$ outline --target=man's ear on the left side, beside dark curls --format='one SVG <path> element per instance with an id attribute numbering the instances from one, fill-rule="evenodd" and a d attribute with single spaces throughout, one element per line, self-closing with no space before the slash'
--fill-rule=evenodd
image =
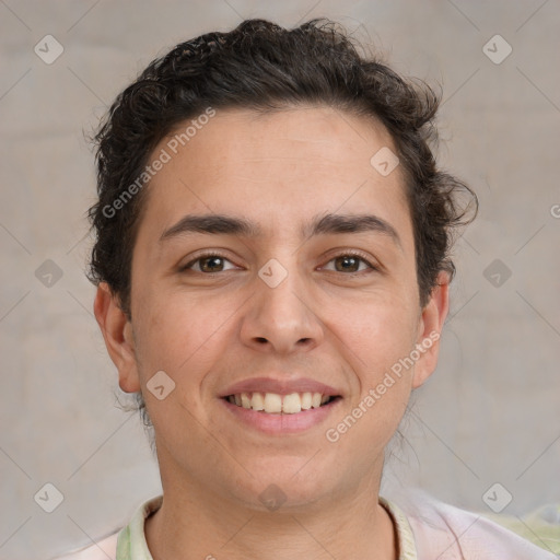
<path id="1" fill-rule="evenodd" d="M 93 304 L 95 318 L 100 325 L 105 346 L 118 370 L 118 383 L 125 393 L 140 390 L 140 380 L 135 353 L 132 324 L 119 306 L 106 282 L 97 287 Z"/>

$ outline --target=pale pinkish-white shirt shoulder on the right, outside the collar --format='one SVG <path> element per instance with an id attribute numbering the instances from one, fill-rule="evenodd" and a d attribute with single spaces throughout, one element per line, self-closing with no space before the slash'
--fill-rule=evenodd
<path id="1" fill-rule="evenodd" d="M 455 508 L 423 493 L 400 499 L 397 503 L 408 521 L 418 560 L 557 559 L 553 553 L 498 525 L 481 513 Z"/>

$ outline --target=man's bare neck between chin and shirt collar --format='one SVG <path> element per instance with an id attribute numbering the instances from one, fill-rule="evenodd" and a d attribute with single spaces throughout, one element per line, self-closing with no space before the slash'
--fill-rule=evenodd
<path id="1" fill-rule="evenodd" d="M 378 478 L 357 485 L 345 499 L 329 492 L 311 505 L 262 511 L 162 476 L 162 506 L 145 522 L 148 547 L 154 560 L 396 560 L 393 522 L 377 501 Z"/>

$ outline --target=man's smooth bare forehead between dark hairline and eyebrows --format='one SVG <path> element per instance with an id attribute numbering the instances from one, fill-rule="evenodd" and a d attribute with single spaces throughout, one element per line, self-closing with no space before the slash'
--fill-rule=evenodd
<path id="1" fill-rule="evenodd" d="M 192 120 L 152 154 L 167 154 L 149 184 L 144 215 L 160 234 L 187 212 L 244 217 L 261 236 L 304 232 L 311 217 L 337 210 L 389 223 L 408 217 L 399 166 L 384 176 L 371 163 L 382 149 L 396 152 L 373 119 L 298 107 L 217 110 L 197 127 Z"/>

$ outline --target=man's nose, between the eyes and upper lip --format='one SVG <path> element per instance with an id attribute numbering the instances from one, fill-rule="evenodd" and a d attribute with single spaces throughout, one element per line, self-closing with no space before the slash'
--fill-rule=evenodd
<path id="1" fill-rule="evenodd" d="M 271 288 L 255 278 L 243 318 L 241 337 L 246 346 L 265 352 L 289 354 L 316 348 L 324 339 L 324 327 L 315 314 L 310 290 L 295 272 Z"/>

